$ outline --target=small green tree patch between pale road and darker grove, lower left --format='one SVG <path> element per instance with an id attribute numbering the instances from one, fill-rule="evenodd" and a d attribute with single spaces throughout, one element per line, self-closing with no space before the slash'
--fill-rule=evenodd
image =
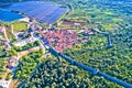
<path id="1" fill-rule="evenodd" d="M 16 79 L 25 79 L 30 76 L 32 70 L 42 59 L 42 51 L 30 53 L 22 58 L 20 58 L 20 64 L 16 68 L 16 73 L 14 78 Z"/>

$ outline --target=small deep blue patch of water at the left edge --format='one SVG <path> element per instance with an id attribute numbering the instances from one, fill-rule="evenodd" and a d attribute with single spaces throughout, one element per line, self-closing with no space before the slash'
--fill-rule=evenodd
<path id="1" fill-rule="evenodd" d="M 0 9 L 0 20 L 6 22 L 11 22 L 18 19 L 23 18 L 21 14 L 16 14 L 10 11 Z"/>

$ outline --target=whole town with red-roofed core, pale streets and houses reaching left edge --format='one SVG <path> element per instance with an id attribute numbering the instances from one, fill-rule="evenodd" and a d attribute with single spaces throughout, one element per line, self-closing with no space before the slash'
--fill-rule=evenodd
<path id="1" fill-rule="evenodd" d="M 20 58 L 28 53 L 43 48 L 43 56 L 45 57 L 45 51 L 50 48 L 48 45 L 63 53 L 64 50 L 72 48 L 75 44 L 79 44 L 79 36 L 66 29 L 56 30 L 51 25 L 47 29 L 43 29 L 41 25 L 35 23 L 35 20 L 26 18 L 24 20 L 20 20 L 20 23 L 23 22 L 25 22 L 28 26 L 25 31 L 14 32 L 12 25 L 12 34 L 18 40 L 13 42 L 8 38 L 6 26 L 0 26 L 0 33 L 3 34 L 3 36 L 1 36 L 1 40 L 3 40 L 1 41 L 1 44 L 3 44 L 7 51 L 12 52 L 8 63 L 3 66 L 6 73 L 3 73 L 1 82 L 6 88 L 9 88 L 11 84 L 11 77 L 13 77 L 13 72 L 15 72 L 16 67 L 19 66 Z M 92 34 L 91 31 L 80 31 L 80 33 L 85 33 L 86 36 Z M 26 45 L 30 46 L 25 47 Z M 20 47 L 22 48 L 20 50 Z M 12 51 L 14 48 L 16 51 Z"/>

